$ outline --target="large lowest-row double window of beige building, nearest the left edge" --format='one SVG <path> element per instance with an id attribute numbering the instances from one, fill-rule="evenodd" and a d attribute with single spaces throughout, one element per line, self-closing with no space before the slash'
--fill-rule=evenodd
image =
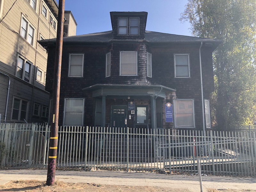
<path id="1" fill-rule="evenodd" d="M 13 98 L 12 102 L 12 120 L 24 121 L 28 116 L 28 101 Z"/>

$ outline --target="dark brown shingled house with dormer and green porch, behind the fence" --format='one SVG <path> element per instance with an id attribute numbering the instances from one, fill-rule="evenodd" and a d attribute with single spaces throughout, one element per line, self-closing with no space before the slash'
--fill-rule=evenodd
<path id="1" fill-rule="evenodd" d="M 60 125 L 211 128 L 215 39 L 146 31 L 147 12 L 110 12 L 112 31 L 63 38 Z M 47 46 L 52 92 L 56 39 Z"/>

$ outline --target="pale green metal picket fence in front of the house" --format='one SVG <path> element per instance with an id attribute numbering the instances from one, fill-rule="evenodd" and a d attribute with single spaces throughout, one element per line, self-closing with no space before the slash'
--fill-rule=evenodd
<path id="1" fill-rule="evenodd" d="M 1 124 L 0 139 L 2 166 L 47 166 L 47 125 Z M 57 167 L 196 174 L 198 161 L 203 174 L 254 177 L 255 132 L 59 127 Z"/>

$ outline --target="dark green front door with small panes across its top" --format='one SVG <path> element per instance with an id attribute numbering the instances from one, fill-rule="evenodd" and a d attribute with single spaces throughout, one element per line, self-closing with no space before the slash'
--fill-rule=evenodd
<path id="1" fill-rule="evenodd" d="M 111 127 L 127 127 L 127 106 L 112 105 L 111 107 Z"/>

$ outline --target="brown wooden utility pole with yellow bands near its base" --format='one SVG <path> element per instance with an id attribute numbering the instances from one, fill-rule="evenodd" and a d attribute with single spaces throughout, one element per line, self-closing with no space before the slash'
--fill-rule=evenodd
<path id="1" fill-rule="evenodd" d="M 59 101 L 60 101 L 60 73 L 62 60 L 63 24 L 65 0 L 59 0 L 57 39 L 55 48 L 54 76 L 53 76 L 53 115 L 50 117 L 50 142 L 48 156 L 48 172 L 46 185 L 55 183 L 55 170 L 58 146 Z"/>

